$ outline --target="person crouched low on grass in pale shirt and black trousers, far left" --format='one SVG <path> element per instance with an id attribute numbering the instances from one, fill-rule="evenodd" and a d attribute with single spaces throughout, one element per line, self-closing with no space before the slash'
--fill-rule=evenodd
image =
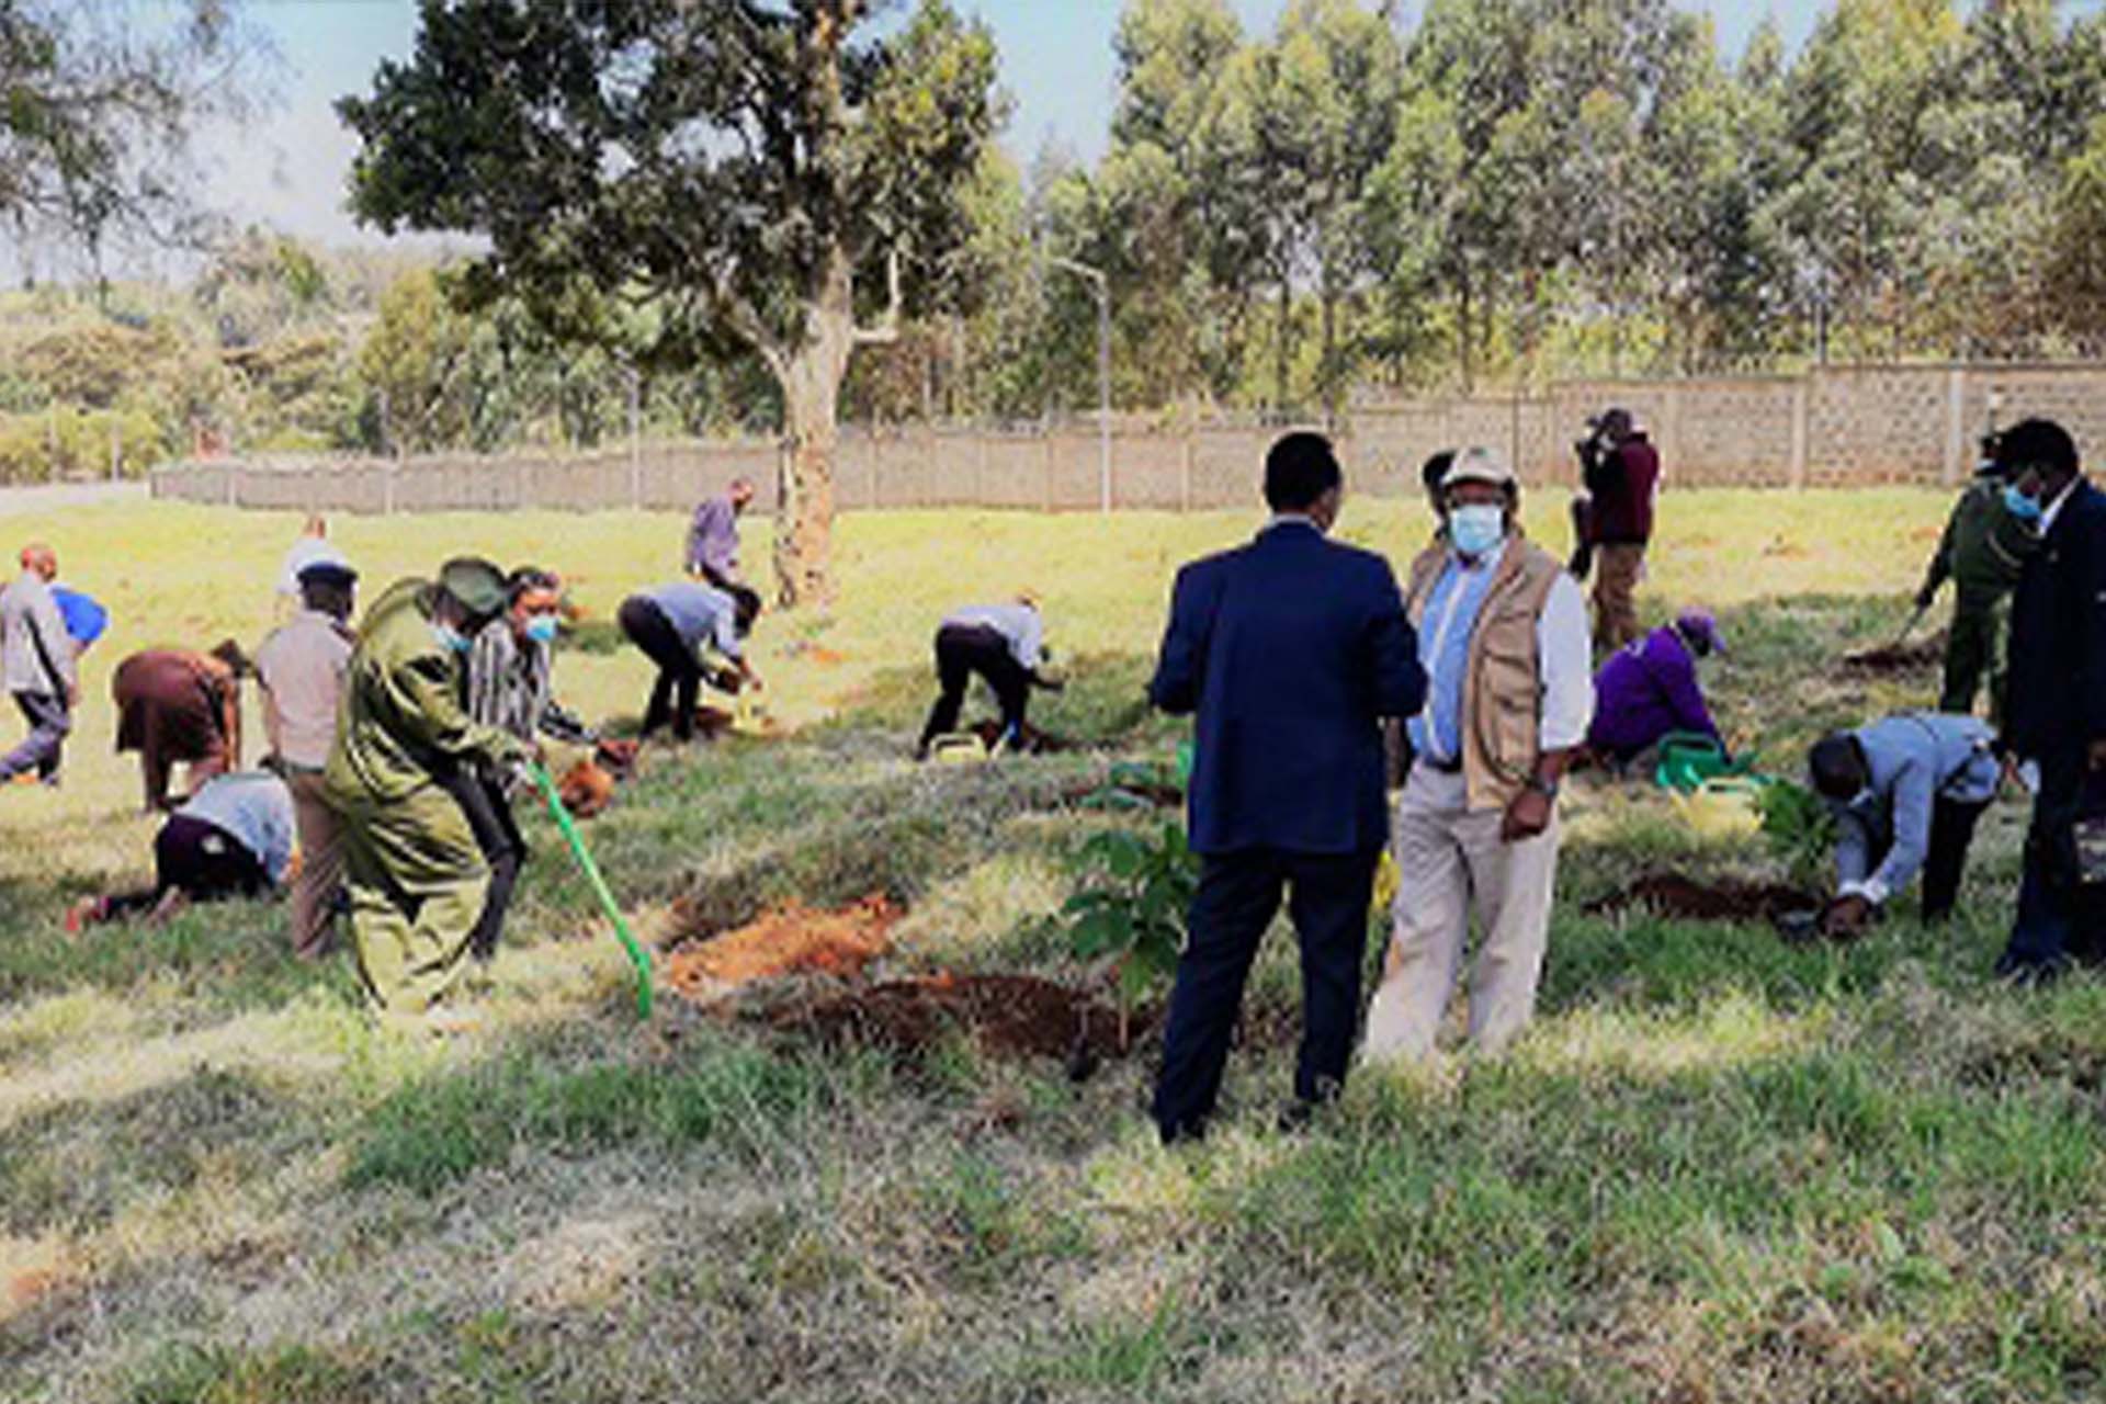
<path id="1" fill-rule="evenodd" d="M 65 916 L 78 932 L 97 922 L 152 914 L 168 920 L 194 901 L 265 897 L 293 867 L 293 791 L 265 770 L 215 775 L 154 838 L 154 886 L 86 897 Z"/>

